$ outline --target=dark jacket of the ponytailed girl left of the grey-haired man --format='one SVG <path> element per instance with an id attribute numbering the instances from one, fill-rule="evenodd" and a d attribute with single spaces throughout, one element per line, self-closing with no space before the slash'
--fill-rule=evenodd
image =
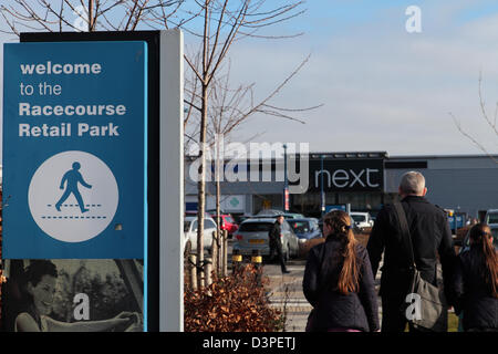
<path id="1" fill-rule="evenodd" d="M 320 331 L 334 327 L 374 332 L 380 329 L 377 294 L 369 254 L 356 246 L 360 262 L 359 291 L 344 295 L 338 282 L 343 264 L 343 244 L 338 236 L 330 235 L 324 243 L 317 244 L 308 254 L 303 292 L 317 312 L 315 326 Z"/>

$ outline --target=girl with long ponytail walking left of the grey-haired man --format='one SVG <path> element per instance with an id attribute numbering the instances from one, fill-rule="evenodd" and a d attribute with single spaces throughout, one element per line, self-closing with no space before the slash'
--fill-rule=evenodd
<path id="1" fill-rule="evenodd" d="M 369 254 L 351 230 L 350 216 L 323 219 L 325 242 L 310 250 L 303 292 L 313 306 L 312 331 L 377 332 L 378 305 Z"/>

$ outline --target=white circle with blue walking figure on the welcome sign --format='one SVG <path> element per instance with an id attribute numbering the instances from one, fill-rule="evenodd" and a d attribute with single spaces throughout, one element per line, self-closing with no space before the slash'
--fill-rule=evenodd
<path id="1" fill-rule="evenodd" d="M 117 183 L 107 165 L 77 150 L 46 159 L 34 173 L 28 195 L 31 216 L 40 229 L 64 242 L 98 236 L 118 204 Z"/>

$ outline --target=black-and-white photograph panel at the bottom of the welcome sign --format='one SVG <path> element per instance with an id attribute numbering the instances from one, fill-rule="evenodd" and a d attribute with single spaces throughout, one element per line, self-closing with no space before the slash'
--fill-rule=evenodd
<path id="1" fill-rule="evenodd" d="M 4 260 L 6 332 L 143 332 L 143 260 Z"/>

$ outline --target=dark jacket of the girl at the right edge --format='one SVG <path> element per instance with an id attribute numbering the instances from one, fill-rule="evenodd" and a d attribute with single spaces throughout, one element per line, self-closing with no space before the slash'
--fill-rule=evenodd
<path id="1" fill-rule="evenodd" d="M 498 329 L 498 299 L 486 282 L 487 269 L 480 244 L 458 256 L 455 269 L 455 312 L 464 311 L 464 331 Z"/>

